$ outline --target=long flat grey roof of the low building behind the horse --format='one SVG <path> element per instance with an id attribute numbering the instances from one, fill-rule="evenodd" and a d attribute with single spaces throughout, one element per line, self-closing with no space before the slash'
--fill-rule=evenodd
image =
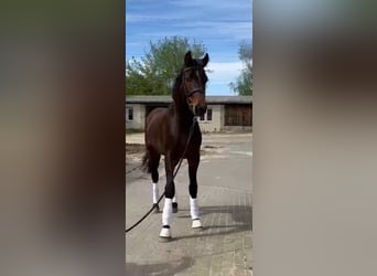
<path id="1" fill-rule="evenodd" d="M 126 104 L 170 104 L 169 95 L 161 96 L 126 96 Z M 206 96 L 207 104 L 251 104 L 251 96 Z"/>

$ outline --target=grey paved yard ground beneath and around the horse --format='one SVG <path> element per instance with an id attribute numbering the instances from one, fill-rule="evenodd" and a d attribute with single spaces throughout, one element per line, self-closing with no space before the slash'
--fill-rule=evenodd
<path id="1" fill-rule="evenodd" d="M 142 144 L 141 134 L 128 144 Z M 204 135 L 198 169 L 198 203 L 204 229 L 192 230 L 187 167 L 176 176 L 179 212 L 173 215 L 171 242 L 161 242 L 161 213 L 151 214 L 126 234 L 126 275 L 251 275 L 251 134 Z M 140 153 L 127 156 L 126 171 Z M 160 162 L 160 191 L 164 189 Z M 126 226 L 151 206 L 149 174 L 136 169 L 126 176 Z M 163 201 L 160 202 L 160 209 Z"/>

